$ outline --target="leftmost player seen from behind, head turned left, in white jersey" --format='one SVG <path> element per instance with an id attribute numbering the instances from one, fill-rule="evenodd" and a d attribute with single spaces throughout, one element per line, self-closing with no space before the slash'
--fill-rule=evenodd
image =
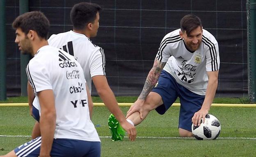
<path id="1" fill-rule="evenodd" d="M 34 56 L 26 72 L 35 94 L 33 115 L 40 122 L 41 137 L 3 157 L 100 157 L 101 142 L 89 117 L 92 102 L 80 64 L 48 45 L 49 21 L 43 13 L 24 13 L 12 26 L 21 52 Z M 67 77 L 72 71 L 77 77 Z"/>

